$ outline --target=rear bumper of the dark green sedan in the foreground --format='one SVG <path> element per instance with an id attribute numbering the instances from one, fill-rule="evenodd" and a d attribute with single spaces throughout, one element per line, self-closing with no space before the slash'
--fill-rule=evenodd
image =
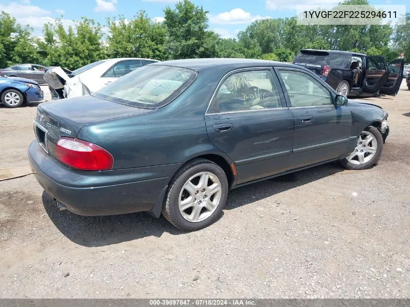
<path id="1" fill-rule="evenodd" d="M 28 156 L 34 177 L 44 190 L 67 210 L 80 215 L 154 210 L 157 204 L 162 205 L 161 197 L 169 181 L 169 176 L 150 178 L 158 174 L 158 166 L 103 172 L 74 171 L 51 158 L 36 141 L 29 145 Z M 174 164 L 173 168 L 178 166 Z M 164 175 L 170 170 L 164 166 Z"/>

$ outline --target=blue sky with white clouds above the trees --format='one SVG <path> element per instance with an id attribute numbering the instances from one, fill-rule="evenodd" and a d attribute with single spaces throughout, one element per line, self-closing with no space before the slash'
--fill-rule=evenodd
<path id="1" fill-rule="evenodd" d="M 235 37 L 254 20 L 296 15 L 297 4 L 336 4 L 340 0 L 193 0 L 209 11 L 209 26 L 221 37 Z M 140 10 L 156 21 L 164 20 L 164 8 L 174 8 L 177 0 L 0 0 L 0 11 L 29 24 L 41 36 L 44 23 L 62 18 L 64 25 L 73 25 L 81 16 L 101 23 L 106 17 L 123 15 L 132 18 Z M 406 3 L 407 2 L 407 3 Z M 408 0 L 370 0 L 373 5 L 409 4 Z M 406 11 L 410 11 L 407 5 Z"/>

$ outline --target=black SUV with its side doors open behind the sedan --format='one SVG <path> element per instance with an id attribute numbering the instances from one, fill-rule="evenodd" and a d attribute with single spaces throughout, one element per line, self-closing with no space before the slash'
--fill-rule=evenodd
<path id="1" fill-rule="evenodd" d="M 344 96 L 395 96 L 403 80 L 404 59 L 387 64 L 381 55 L 303 49 L 292 63 L 308 68 Z"/>

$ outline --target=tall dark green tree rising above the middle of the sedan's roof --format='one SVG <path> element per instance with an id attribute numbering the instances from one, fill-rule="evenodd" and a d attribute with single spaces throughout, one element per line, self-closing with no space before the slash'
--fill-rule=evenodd
<path id="1" fill-rule="evenodd" d="M 168 45 L 172 59 L 205 58 L 217 55 L 218 35 L 208 31 L 208 11 L 183 0 L 164 10 Z"/>

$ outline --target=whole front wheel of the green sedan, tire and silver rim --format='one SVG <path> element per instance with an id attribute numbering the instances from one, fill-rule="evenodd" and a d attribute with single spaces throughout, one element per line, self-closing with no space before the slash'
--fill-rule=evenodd
<path id="1" fill-rule="evenodd" d="M 383 150 L 383 138 L 375 127 L 361 131 L 355 150 L 341 160 L 346 169 L 362 170 L 376 164 Z"/>

